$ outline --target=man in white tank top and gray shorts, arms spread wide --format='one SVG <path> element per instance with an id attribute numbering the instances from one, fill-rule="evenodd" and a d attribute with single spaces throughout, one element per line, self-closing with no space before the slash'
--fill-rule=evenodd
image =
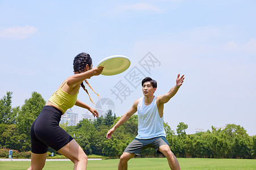
<path id="1" fill-rule="evenodd" d="M 166 133 L 163 127 L 163 108 L 179 90 L 184 81 L 184 75 L 177 75 L 176 85 L 162 96 L 154 96 L 157 83 L 147 77 L 142 80 L 142 91 L 144 97 L 134 101 L 131 109 L 125 113 L 120 120 L 108 131 L 106 138 L 112 138 L 115 129 L 124 124 L 134 113 L 138 111 L 138 135 L 126 147 L 120 157 L 118 169 L 127 169 L 127 162 L 135 155 L 140 155 L 141 151 L 148 147 L 155 148 L 166 156 L 171 169 L 180 169 L 179 162 L 170 150 L 166 140 Z"/>

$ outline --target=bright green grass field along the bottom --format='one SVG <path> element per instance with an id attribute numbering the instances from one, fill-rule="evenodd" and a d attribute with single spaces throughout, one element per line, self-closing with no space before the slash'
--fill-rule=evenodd
<path id="1" fill-rule="evenodd" d="M 181 169 L 256 169 L 255 159 L 179 158 Z M 119 159 L 89 160 L 87 169 L 117 169 Z M 30 162 L 0 162 L 0 169 L 27 169 Z M 73 169 L 72 162 L 46 162 L 44 170 Z M 128 169 L 170 169 L 166 158 L 134 158 Z"/>

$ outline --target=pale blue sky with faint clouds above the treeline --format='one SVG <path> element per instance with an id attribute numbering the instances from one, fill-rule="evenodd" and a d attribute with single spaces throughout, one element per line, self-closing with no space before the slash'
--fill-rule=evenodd
<path id="1" fill-rule="evenodd" d="M 142 97 L 133 73 L 155 79 L 155 95 L 166 94 L 180 73 L 184 84 L 164 105 L 173 130 L 179 122 L 189 134 L 237 124 L 255 135 L 255 20 L 255 1 L 0 0 L 0 97 L 12 91 L 13 107 L 33 91 L 48 100 L 73 74 L 77 54 L 89 53 L 94 66 L 121 54 L 131 60 L 128 70 L 88 80 L 100 99 L 113 101 L 117 116 Z M 79 99 L 95 108 L 82 89 Z"/>

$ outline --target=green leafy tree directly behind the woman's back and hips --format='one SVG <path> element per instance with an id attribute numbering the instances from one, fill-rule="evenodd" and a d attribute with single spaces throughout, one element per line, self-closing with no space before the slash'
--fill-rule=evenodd
<path id="1" fill-rule="evenodd" d="M 18 112 L 16 119 L 21 134 L 30 136 L 31 125 L 42 111 L 44 105 L 46 105 L 46 101 L 37 92 L 32 92 L 31 98 L 25 100 L 25 104 L 22 105 L 22 109 Z"/>

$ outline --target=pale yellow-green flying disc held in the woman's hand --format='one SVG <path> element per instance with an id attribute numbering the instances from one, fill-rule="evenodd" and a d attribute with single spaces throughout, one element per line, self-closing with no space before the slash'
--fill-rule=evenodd
<path id="1" fill-rule="evenodd" d="M 102 59 L 97 67 L 103 66 L 102 75 L 115 75 L 122 73 L 130 67 L 130 59 L 125 56 L 115 55 Z"/>

